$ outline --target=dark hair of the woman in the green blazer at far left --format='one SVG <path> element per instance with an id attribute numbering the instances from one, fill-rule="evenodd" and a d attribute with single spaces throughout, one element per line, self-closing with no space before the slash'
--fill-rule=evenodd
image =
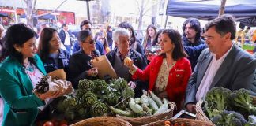
<path id="1" fill-rule="evenodd" d="M 23 55 L 15 50 L 14 45 L 23 46 L 29 39 L 36 37 L 36 32 L 28 28 L 26 24 L 13 24 L 10 26 L 3 42 L 6 44 L 6 50 L 11 57 L 17 58 L 17 60 L 23 65 Z M 31 60 L 31 58 L 28 58 Z"/>

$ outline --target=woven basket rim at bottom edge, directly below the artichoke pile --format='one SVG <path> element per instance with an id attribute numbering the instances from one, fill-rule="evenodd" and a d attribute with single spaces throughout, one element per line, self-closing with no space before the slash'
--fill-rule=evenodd
<path id="1" fill-rule="evenodd" d="M 92 117 L 81 120 L 70 126 L 132 126 L 128 121 L 119 117 Z"/>

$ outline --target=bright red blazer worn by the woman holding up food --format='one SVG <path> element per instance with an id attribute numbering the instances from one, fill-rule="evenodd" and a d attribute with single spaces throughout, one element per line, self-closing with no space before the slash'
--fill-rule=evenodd
<path id="1" fill-rule="evenodd" d="M 144 71 L 137 69 L 132 77 L 134 79 L 149 80 L 149 90 L 152 91 L 155 87 L 163 58 L 163 56 L 154 57 Z M 190 61 L 183 57 L 176 61 L 176 64 L 169 72 L 168 85 L 165 91 L 167 91 L 168 100 L 175 102 L 178 109 L 182 106 L 181 104 L 185 98 L 186 85 L 190 78 L 191 71 Z"/>

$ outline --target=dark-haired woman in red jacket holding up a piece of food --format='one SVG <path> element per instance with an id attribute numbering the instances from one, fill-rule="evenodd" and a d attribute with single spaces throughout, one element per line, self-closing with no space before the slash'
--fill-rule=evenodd
<path id="1" fill-rule="evenodd" d="M 130 68 L 134 79 L 149 80 L 149 90 L 160 98 L 175 102 L 181 109 L 186 84 L 191 75 L 190 61 L 186 59 L 181 35 L 178 31 L 164 30 L 160 39 L 160 55 L 153 57 L 145 70 L 138 69 L 131 60 L 124 64 Z"/>

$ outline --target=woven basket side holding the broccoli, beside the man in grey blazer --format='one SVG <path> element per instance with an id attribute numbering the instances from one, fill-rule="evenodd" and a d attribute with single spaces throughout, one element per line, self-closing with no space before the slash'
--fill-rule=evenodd
<path id="1" fill-rule="evenodd" d="M 212 120 L 209 120 L 209 118 L 205 115 L 205 113 L 201 109 L 201 104 L 203 102 L 204 102 L 203 100 L 200 100 L 196 104 L 196 112 L 197 112 L 196 117 L 197 117 L 198 120 L 205 121 L 205 122 L 208 122 L 210 124 L 213 124 Z"/>

